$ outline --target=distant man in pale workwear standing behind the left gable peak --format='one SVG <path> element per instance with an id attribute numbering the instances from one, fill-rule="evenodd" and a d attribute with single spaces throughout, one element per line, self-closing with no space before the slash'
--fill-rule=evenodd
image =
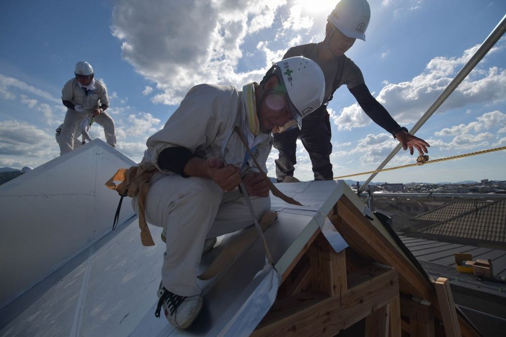
<path id="1" fill-rule="evenodd" d="M 60 127 L 60 155 L 74 149 L 75 132 L 85 118 L 95 117 L 97 124 L 104 128 L 105 139 L 116 147 L 116 129 L 111 116 L 105 112 L 109 108 L 109 97 L 104 84 L 94 79 L 92 66 L 85 61 L 75 65 L 74 78 L 65 83 L 62 89 L 62 102 L 67 107 L 65 120 Z"/>

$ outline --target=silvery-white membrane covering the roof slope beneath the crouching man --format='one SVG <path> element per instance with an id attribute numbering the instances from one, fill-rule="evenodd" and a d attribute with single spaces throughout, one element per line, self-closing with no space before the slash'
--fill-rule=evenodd
<path id="1" fill-rule="evenodd" d="M 353 196 L 344 182 L 312 181 L 276 186 L 304 206 L 288 205 L 271 196 L 271 210 L 278 212 L 278 217 L 264 234 L 274 269 L 266 264 L 255 230 L 245 228 L 219 237 L 217 246 L 203 255 L 199 272 L 206 270 L 238 239 L 254 235 L 245 240 L 244 247 L 235 249 L 235 256 L 216 276 L 199 280 L 204 305 L 189 329 L 175 329 L 164 317 L 154 316 L 165 245 L 159 239 L 161 229 L 150 226 L 156 246 L 143 247 L 135 217 L 2 309 L 0 336 L 249 335 L 272 305 L 280 275 L 318 228 L 326 232 L 334 249 L 347 247 L 325 216 L 345 192 Z M 128 199 L 126 204 L 130 204 Z M 110 214 L 114 211 L 111 208 Z"/>

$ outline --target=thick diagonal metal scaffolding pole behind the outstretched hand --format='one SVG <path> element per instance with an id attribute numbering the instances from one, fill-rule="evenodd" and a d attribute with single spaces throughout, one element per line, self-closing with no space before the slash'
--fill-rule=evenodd
<path id="1" fill-rule="evenodd" d="M 427 112 L 421 116 L 420 120 L 416 122 L 416 124 L 409 130 L 409 133 L 415 134 L 418 129 L 424 125 L 424 123 L 432 116 L 432 114 L 443 104 L 444 101 L 448 98 L 448 96 L 455 90 L 455 88 L 466 78 L 466 76 L 474 69 L 474 67 L 483 59 L 483 57 L 488 53 L 488 51 L 494 46 L 495 42 L 497 42 L 501 36 L 506 31 L 506 15 L 504 15 L 495 26 L 494 30 L 488 35 L 488 37 L 483 41 L 480 45 L 476 53 L 471 57 L 471 59 L 463 66 L 462 69 L 458 72 L 458 74 L 453 78 L 453 80 L 448 84 L 446 89 L 439 95 L 436 101 L 431 105 L 431 107 L 427 110 Z M 388 162 L 399 152 L 401 149 L 401 143 L 398 143 L 395 149 L 390 153 L 390 155 L 385 158 L 383 163 L 381 163 L 376 170 L 381 170 L 388 164 Z M 377 173 L 371 174 L 371 176 L 360 186 L 359 191 L 364 190 L 367 184 L 376 176 Z"/>

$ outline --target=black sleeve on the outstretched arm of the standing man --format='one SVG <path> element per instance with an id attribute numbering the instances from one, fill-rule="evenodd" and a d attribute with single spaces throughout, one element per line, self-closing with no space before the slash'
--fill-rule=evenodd
<path id="1" fill-rule="evenodd" d="M 390 116 L 387 109 L 385 109 L 374 97 L 372 97 L 365 83 L 359 84 L 349 90 L 354 95 L 362 110 L 364 110 L 367 116 L 369 116 L 374 123 L 390 133 L 400 128 L 400 125 L 397 124 L 392 116 Z"/>

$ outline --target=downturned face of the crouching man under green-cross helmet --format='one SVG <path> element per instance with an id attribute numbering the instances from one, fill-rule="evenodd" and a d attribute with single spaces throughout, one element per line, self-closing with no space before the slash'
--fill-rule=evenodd
<path id="1" fill-rule="evenodd" d="M 293 119 L 286 93 L 281 89 L 276 76 L 271 76 L 264 88 L 265 94 L 258 112 L 260 130 L 264 133 L 279 132 L 280 127 Z"/>

